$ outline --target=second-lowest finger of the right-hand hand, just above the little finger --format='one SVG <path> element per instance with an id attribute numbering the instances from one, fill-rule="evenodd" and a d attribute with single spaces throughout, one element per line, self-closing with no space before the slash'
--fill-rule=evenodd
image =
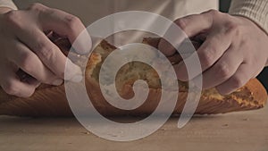
<path id="1" fill-rule="evenodd" d="M 203 88 L 214 88 L 228 80 L 243 62 L 243 59 L 239 56 L 241 56 L 239 50 L 230 46 L 217 63 L 203 73 Z"/>

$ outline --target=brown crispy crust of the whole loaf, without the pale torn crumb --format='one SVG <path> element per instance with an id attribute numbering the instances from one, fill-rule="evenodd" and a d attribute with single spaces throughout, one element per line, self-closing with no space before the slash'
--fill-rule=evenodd
<path id="1" fill-rule="evenodd" d="M 145 38 L 144 43 L 157 47 L 159 38 Z M 60 46 L 66 49 L 64 46 Z M 105 40 L 98 46 L 101 52 L 94 52 L 87 64 L 86 87 L 88 96 L 99 113 L 106 116 L 114 115 L 143 115 L 150 114 L 155 110 L 161 96 L 161 88 L 150 88 L 147 101 L 132 111 L 120 110 L 109 105 L 102 95 L 98 80 L 93 76 L 96 66 L 100 65 L 102 57 L 111 53 L 116 47 L 110 45 Z M 123 85 L 121 96 L 129 98 L 133 96 L 131 82 Z M 174 114 L 180 114 L 188 92 L 180 89 L 177 105 Z M 267 100 L 267 93 L 262 84 L 256 80 L 250 80 L 246 86 L 239 88 L 236 92 L 221 96 L 213 89 L 205 90 L 200 98 L 196 113 L 214 114 L 229 113 L 235 111 L 247 111 L 264 107 Z M 18 116 L 72 116 L 71 109 L 65 96 L 64 86 L 53 87 L 41 85 L 33 96 L 29 98 L 19 98 L 10 96 L 0 89 L 0 114 Z"/>

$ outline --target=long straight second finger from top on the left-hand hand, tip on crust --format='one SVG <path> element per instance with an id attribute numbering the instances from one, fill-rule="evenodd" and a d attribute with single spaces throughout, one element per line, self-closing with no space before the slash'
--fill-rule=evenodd
<path id="1" fill-rule="evenodd" d="M 65 80 L 81 79 L 77 78 L 82 75 L 80 67 L 71 63 L 71 60 L 63 55 L 59 47 L 55 46 L 41 30 L 36 28 L 22 29 L 18 37 L 24 45 L 38 55 L 42 63 L 57 77 Z M 68 66 L 66 66 L 68 76 L 64 77 L 66 63 L 68 63 Z"/>

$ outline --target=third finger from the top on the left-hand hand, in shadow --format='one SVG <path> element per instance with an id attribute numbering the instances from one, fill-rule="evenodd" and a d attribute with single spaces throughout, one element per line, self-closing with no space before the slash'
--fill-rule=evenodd
<path id="1" fill-rule="evenodd" d="M 38 56 L 30 51 L 27 46 L 24 46 L 19 41 L 14 41 L 13 44 L 15 44 L 14 49 L 17 51 L 15 54 L 10 55 L 11 60 L 21 68 L 22 71 L 25 71 L 36 80 L 46 84 L 58 86 L 63 83 L 63 80 L 56 77 L 52 71 L 48 70 Z"/>

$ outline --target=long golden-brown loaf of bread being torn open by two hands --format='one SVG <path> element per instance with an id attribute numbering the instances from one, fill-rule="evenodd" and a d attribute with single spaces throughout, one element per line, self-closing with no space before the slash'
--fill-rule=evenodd
<path id="1" fill-rule="evenodd" d="M 143 43 L 157 47 L 159 38 L 145 38 Z M 70 45 L 64 41 L 57 41 L 64 54 L 68 53 Z M 67 44 L 67 45 L 66 45 Z M 157 72 L 145 63 L 133 62 L 122 66 L 115 79 L 118 94 L 123 98 L 131 98 L 133 83 L 136 80 L 146 80 L 149 93 L 147 100 L 134 110 L 121 110 L 110 105 L 101 93 L 98 83 L 99 71 L 105 58 L 115 50 L 116 47 L 103 40 L 91 54 L 86 67 L 85 80 L 88 96 L 96 110 L 105 116 L 116 115 L 146 115 L 153 113 L 161 97 L 161 82 Z M 75 58 L 81 57 L 73 55 Z M 173 111 L 180 114 L 188 96 L 188 82 L 181 82 L 178 102 Z M 221 96 L 215 88 L 202 91 L 197 106 L 197 114 L 230 113 L 237 111 L 254 110 L 264 107 L 267 93 L 262 84 L 256 80 L 249 80 L 247 84 L 227 96 Z M 72 116 L 68 104 L 64 85 L 54 87 L 42 84 L 37 88 L 33 96 L 20 98 L 7 95 L 0 89 L 0 114 L 16 116 Z"/>

